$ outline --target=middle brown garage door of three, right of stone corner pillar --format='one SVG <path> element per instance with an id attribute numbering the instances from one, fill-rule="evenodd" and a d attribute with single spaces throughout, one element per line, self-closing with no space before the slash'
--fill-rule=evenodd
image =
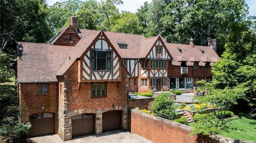
<path id="1" fill-rule="evenodd" d="M 78 114 L 72 116 L 72 137 L 94 134 L 94 115 Z"/>

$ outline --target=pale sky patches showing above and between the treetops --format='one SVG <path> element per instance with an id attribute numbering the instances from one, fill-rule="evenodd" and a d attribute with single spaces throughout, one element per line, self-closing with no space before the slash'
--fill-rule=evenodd
<path id="1" fill-rule="evenodd" d="M 46 3 L 49 6 L 52 6 L 55 2 L 63 2 L 63 1 L 66 1 L 66 0 L 46 0 Z M 97 0 L 97 1 L 100 2 L 100 0 Z M 142 6 L 145 1 L 148 1 L 150 3 L 152 0 L 123 0 L 124 4 L 117 6 L 117 8 L 119 9 L 119 11 L 126 10 L 132 13 L 136 13 L 137 9 L 140 8 L 140 6 Z M 245 1 L 249 7 L 248 16 L 256 16 L 256 0 L 245 0 Z"/>

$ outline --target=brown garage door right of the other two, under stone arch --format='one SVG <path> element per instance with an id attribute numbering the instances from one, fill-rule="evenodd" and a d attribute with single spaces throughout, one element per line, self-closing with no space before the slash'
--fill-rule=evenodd
<path id="1" fill-rule="evenodd" d="M 122 111 L 113 110 L 102 114 L 102 131 L 115 131 L 121 129 Z"/>

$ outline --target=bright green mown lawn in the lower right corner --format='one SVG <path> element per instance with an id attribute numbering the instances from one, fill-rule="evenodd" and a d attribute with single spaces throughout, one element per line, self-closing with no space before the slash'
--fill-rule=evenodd
<path id="1" fill-rule="evenodd" d="M 255 122 L 256 120 L 248 118 L 234 119 L 231 123 L 233 127 L 237 127 L 238 130 L 230 130 L 229 132 L 223 131 L 221 135 L 235 140 L 242 139 L 256 142 L 256 125 L 249 124 L 253 121 Z M 193 124 L 194 123 L 188 123 L 190 126 L 193 126 Z"/>

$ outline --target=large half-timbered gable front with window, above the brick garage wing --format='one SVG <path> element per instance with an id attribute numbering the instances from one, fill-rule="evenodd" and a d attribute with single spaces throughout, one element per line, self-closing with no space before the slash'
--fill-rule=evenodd
<path id="1" fill-rule="evenodd" d="M 81 82 L 121 81 L 121 58 L 101 31 L 81 59 Z"/>

